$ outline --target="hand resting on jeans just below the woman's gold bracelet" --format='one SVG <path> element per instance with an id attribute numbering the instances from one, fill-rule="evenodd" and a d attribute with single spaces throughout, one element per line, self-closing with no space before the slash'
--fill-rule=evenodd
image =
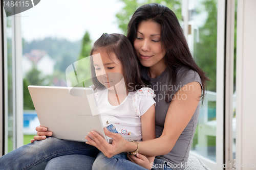
<path id="1" fill-rule="evenodd" d="M 147 159 L 147 157 L 145 157 L 144 155 L 141 155 L 141 154 L 136 154 L 136 156 L 135 155 L 132 156 L 132 155 L 127 153 L 127 158 L 130 161 L 132 161 L 132 162 L 134 162 L 134 163 L 136 163 L 136 164 L 138 164 L 138 165 L 140 165 L 140 166 L 142 166 L 142 167 L 144 167 L 146 169 L 151 169 L 152 166 L 153 166 L 153 162 L 151 163 Z"/>

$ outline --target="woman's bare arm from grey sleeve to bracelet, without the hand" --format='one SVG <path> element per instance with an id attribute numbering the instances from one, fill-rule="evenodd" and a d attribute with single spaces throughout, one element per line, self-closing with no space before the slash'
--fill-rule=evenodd
<path id="1" fill-rule="evenodd" d="M 168 154 L 195 113 L 201 91 L 198 82 L 183 86 L 169 105 L 162 135 L 154 140 L 140 142 L 139 153 L 152 156 Z"/>

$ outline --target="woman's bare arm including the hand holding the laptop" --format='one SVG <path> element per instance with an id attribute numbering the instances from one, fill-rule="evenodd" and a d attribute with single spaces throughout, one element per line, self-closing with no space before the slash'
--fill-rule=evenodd
<path id="1" fill-rule="evenodd" d="M 191 86 L 194 88 L 188 88 Z M 193 116 L 200 100 L 201 91 L 201 85 L 198 82 L 191 82 L 183 86 L 169 105 L 162 135 L 153 140 L 139 142 L 139 153 L 151 156 L 169 153 Z M 111 133 L 108 130 L 104 131 L 106 135 L 113 138 L 114 143 L 109 144 L 96 132 L 89 133 L 95 141 L 89 137 L 86 138 L 89 139 L 87 143 L 97 147 L 106 157 L 111 158 L 121 152 L 133 152 L 137 149 L 136 143 L 125 141 L 119 134 Z"/>

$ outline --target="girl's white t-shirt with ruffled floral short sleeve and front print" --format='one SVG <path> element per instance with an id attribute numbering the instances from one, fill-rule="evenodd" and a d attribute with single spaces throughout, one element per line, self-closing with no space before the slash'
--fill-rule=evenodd
<path id="1" fill-rule="evenodd" d="M 95 93 L 104 127 L 112 124 L 119 134 L 139 136 L 141 140 L 141 121 L 143 115 L 152 105 L 156 104 L 155 93 L 151 88 L 141 88 L 129 92 L 118 106 L 112 106 L 108 100 L 108 89 Z"/>

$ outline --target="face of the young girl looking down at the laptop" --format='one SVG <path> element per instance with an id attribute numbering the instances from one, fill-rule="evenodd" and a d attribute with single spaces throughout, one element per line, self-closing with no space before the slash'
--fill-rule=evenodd
<path id="1" fill-rule="evenodd" d="M 115 54 L 108 55 L 102 51 L 95 51 L 93 65 L 98 81 L 106 88 L 111 88 L 123 80 L 123 67 Z"/>

